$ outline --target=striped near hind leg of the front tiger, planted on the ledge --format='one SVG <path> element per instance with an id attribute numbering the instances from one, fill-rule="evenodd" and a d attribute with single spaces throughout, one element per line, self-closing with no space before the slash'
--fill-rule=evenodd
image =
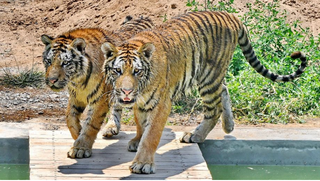
<path id="1" fill-rule="evenodd" d="M 204 118 L 197 128 L 191 132 L 185 132 L 180 137 L 180 142 L 201 143 L 205 140 L 209 132 L 214 129 L 223 112 L 222 104 L 222 83 L 218 90 L 207 92 L 202 96 L 202 104 L 204 108 Z M 201 94 L 201 90 L 200 90 Z"/>

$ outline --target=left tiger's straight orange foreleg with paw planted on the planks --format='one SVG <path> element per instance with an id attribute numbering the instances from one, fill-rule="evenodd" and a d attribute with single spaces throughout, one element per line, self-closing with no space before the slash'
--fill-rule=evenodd
<path id="1" fill-rule="evenodd" d="M 67 153 L 71 158 L 87 158 L 92 154 L 92 146 L 106 113 L 109 111 L 108 102 L 101 99 L 95 104 L 89 105 L 88 117 L 83 125 L 80 136 L 73 143 Z"/>

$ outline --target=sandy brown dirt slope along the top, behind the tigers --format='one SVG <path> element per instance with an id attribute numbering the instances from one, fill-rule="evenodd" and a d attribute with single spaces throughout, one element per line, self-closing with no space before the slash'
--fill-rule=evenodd
<path id="1" fill-rule="evenodd" d="M 242 14 L 248 11 L 245 4 L 253 2 L 237 0 L 235 7 Z M 189 8 L 185 5 L 186 0 L 0 0 L 0 65 L 6 63 L 15 67 L 12 55 L 22 67 L 31 65 L 32 61 L 42 64 L 42 34 L 57 36 L 84 27 L 114 30 L 127 15 L 149 16 L 159 24 L 165 14 L 170 19 L 187 12 Z M 289 13 L 290 21 L 299 19 L 302 27 L 310 27 L 314 35 L 320 33 L 320 4 L 317 0 L 281 0 L 281 9 Z"/>

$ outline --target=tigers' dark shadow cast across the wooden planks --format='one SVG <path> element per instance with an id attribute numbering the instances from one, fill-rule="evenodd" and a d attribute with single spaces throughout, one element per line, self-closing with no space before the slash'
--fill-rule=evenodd
<path id="1" fill-rule="evenodd" d="M 174 132 L 171 132 L 171 131 L 172 129 L 165 128 L 163 133 L 169 132 L 173 134 L 170 137 L 172 139 L 161 139 L 158 145 L 158 149 L 161 148 L 162 146 L 165 146 L 171 143 L 174 140 L 173 138 L 176 137 L 176 135 Z M 119 137 L 118 135 L 118 137 L 115 136 L 112 138 L 105 138 L 106 144 L 108 140 L 118 140 L 118 139 L 119 140 L 102 149 L 94 148 L 92 150 L 92 155 L 90 158 L 82 158 L 82 159 L 77 158 L 75 159 L 77 160 L 77 163 L 74 163 L 72 165 L 60 165 L 58 167 L 59 172 L 63 174 L 68 174 L 68 175 L 70 174 L 77 174 L 77 176 L 83 175 L 83 177 L 99 177 L 98 175 L 103 174 L 103 176 L 101 175 L 101 177 L 115 177 L 115 178 L 121 177 L 120 179 L 139 179 L 139 178 L 165 179 L 168 177 L 173 177 L 174 175 L 181 174 L 186 169 L 194 165 L 203 163 L 203 160 L 193 159 L 192 154 L 182 154 L 183 152 L 189 151 L 190 149 L 192 149 L 190 147 L 194 146 L 193 144 L 177 142 L 175 144 L 170 144 L 170 146 L 175 146 L 177 144 L 183 144 L 184 146 L 181 147 L 180 145 L 180 148 L 177 146 L 176 149 L 173 148 L 171 150 L 166 150 L 166 151 L 164 150 L 164 151 L 161 151 L 163 152 L 162 154 L 158 154 L 158 153 L 155 154 L 155 164 L 157 166 L 157 170 L 155 174 L 150 174 L 150 175 L 133 174 L 133 173 L 130 174 L 129 165 L 134 159 L 136 153 L 129 152 L 125 146 L 130 140 L 128 139 L 128 137 L 131 138 L 133 137 L 133 135 L 135 134 L 126 134 L 122 132 L 121 137 Z M 122 137 L 124 137 L 124 139 L 122 139 Z M 103 154 L 99 154 L 102 152 Z M 123 154 L 119 154 L 119 153 L 123 153 Z M 190 159 L 188 157 L 190 157 Z M 166 162 L 167 160 L 168 162 Z M 185 162 L 186 160 L 187 162 Z M 91 165 L 92 162 L 91 164 L 85 165 L 84 161 L 85 162 L 88 161 L 87 163 L 89 163 L 90 161 L 94 161 L 95 163 L 94 165 Z M 80 164 L 82 164 L 83 166 L 79 166 Z M 112 167 L 117 165 L 118 165 L 117 169 L 112 169 Z M 82 169 L 70 169 L 70 168 L 76 168 L 76 167 L 80 167 Z M 105 169 L 108 169 L 108 170 L 105 170 Z"/>

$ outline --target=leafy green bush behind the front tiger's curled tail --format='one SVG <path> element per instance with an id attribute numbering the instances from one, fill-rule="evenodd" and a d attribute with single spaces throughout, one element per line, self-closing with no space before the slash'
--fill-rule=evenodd
<path id="1" fill-rule="evenodd" d="M 233 0 L 188 0 L 191 11 L 212 10 L 238 13 Z M 303 122 L 304 116 L 320 115 L 320 34 L 314 37 L 301 22 L 288 23 L 287 12 L 279 1 L 247 4 L 248 12 L 239 16 L 248 31 L 253 49 L 261 63 L 278 74 L 290 74 L 300 65 L 290 54 L 302 51 L 308 67 L 301 77 L 285 83 L 273 82 L 258 74 L 247 63 L 239 46 L 234 52 L 226 79 L 235 118 L 241 122 Z"/>

